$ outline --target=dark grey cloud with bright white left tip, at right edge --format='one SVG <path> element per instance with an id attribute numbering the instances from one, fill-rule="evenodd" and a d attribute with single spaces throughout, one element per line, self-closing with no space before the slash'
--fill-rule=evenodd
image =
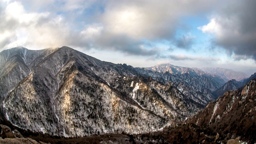
<path id="1" fill-rule="evenodd" d="M 207 25 L 198 27 L 204 33 L 214 34 L 213 44 L 223 47 L 236 60 L 256 60 L 256 1 L 230 2 L 212 16 Z"/>

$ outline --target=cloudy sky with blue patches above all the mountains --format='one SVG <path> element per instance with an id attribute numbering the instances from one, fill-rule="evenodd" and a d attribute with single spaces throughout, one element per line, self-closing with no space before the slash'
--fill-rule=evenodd
<path id="1" fill-rule="evenodd" d="M 103 61 L 256 72 L 256 0 L 0 0 L 0 51 L 69 46 Z"/>

